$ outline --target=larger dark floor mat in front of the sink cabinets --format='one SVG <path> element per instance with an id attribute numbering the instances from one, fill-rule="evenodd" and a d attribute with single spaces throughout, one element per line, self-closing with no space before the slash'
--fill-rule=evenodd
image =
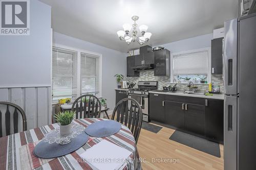
<path id="1" fill-rule="evenodd" d="M 175 131 L 172 134 L 172 136 L 170 136 L 169 139 L 177 141 L 181 144 L 185 144 L 188 147 L 205 152 L 207 154 L 210 154 L 219 158 L 221 157 L 219 143 L 215 143 L 207 139 L 203 139 L 201 137 L 197 137 L 197 136 L 190 135 L 180 131 Z"/>

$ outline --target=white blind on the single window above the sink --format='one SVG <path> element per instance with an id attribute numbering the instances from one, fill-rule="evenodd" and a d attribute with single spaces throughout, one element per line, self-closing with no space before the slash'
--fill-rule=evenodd
<path id="1" fill-rule="evenodd" d="M 208 50 L 173 56 L 173 75 L 207 75 Z"/>

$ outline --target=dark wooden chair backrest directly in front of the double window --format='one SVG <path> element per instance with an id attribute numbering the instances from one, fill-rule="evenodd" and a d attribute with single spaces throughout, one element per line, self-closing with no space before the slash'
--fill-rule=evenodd
<path id="1" fill-rule="evenodd" d="M 71 110 L 76 111 L 76 118 L 97 118 L 100 116 L 101 104 L 95 95 L 85 94 L 75 100 Z"/>

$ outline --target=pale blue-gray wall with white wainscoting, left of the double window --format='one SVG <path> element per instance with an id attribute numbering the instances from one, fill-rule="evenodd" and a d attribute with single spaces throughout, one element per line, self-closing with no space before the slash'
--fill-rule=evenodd
<path id="1" fill-rule="evenodd" d="M 51 40 L 51 7 L 37 0 L 30 35 L 0 36 L 0 101 L 22 107 L 28 129 L 51 124 Z"/>

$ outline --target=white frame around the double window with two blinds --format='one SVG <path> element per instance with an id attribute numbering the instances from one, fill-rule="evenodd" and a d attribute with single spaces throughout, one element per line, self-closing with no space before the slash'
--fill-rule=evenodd
<path id="1" fill-rule="evenodd" d="M 77 96 L 76 98 L 78 98 L 81 95 L 81 88 L 80 88 L 80 83 L 81 83 L 81 53 L 86 53 L 86 54 L 90 54 L 90 55 L 95 55 L 99 57 L 99 93 L 98 95 L 101 96 L 101 90 L 102 90 L 102 54 L 100 53 L 95 53 L 95 52 L 91 52 L 88 50 L 83 50 L 83 49 L 79 49 L 79 48 L 74 48 L 74 47 L 70 47 L 70 46 L 66 46 L 66 45 L 62 45 L 62 44 L 58 44 L 58 43 L 53 43 L 52 47 L 57 47 L 57 48 L 64 48 L 67 50 L 72 50 L 72 51 L 76 51 L 77 52 Z M 51 68 L 52 68 L 52 62 L 51 62 Z M 52 69 L 51 69 L 52 72 Z M 51 80 L 52 81 L 52 80 Z M 52 101 L 52 103 L 56 103 L 57 100 Z"/>

